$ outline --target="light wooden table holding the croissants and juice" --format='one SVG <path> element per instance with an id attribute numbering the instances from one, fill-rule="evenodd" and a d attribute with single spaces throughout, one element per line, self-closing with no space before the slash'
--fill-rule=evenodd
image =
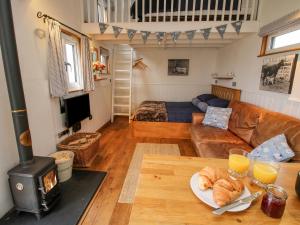
<path id="1" fill-rule="evenodd" d="M 289 196 L 281 219 L 270 218 L 261 211 L 261 197 L 243 212 L 212 214 L 212 208 L 190 189 L 191 176 L 204 166 L 226 169 L 227 160 L 145 155 L 129 224 L 300 224 L 300 199 L 294 189 L 299 163 L 281 165 L 276 184 L 283 186 Z M 259 190 L 247 178 L 245 184 L 252 192 Z"/>

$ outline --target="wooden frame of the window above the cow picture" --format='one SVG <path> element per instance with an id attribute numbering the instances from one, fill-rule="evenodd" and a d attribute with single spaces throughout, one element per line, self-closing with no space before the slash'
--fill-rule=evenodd
<path id="1" fill-rule="evenodd" d="M 272 49 L 272 42 L 274 40 L 275 37 L 296 31 L 300 29 L 300 24 L 284 29 L 282 31 L 279 32 L 275 32 L 272 33 L 270 35 L 266 35 L 262 38 L 262 44 L 261 44 L 261 50 L 260 50 L 260 55 L 261 56 L 267 56 L 267 55 L 273 55 L 273 54 L 277 54 L 277 53 L 285 53 L 285 52 L 291 52 L 291 51 L 298 51 L 300 50 L 300 43 L 297 44 L 293 44 L 293 45 L 288 45 L 288 46 L 284 46 L 284 47 L 280 47 L 280 48 L 274 48 Z"/>

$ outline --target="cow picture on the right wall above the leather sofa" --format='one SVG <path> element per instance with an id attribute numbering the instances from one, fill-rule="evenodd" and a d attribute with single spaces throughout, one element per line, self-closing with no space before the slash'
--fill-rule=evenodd
<path id="1" fill-rule="evenodd" d="M 291 94 L 297 59 L 298 54 L 264 59 L 259 89 Z"/>

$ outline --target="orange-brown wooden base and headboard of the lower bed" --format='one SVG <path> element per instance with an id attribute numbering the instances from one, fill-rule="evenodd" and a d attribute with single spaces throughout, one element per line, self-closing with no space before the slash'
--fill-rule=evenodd
<path id="1" fill-rule="evenodd" d="M 240 101 L 241 90 L 227 88 L 219 85 L 212 85 L 211 93 L 219 98 L 229 101 Z M 134 137 L 154 138 L 178 138 L 190 139 L 191 123 L 175 122 L 145 122 L 135 121 L 131 123 Z"/>

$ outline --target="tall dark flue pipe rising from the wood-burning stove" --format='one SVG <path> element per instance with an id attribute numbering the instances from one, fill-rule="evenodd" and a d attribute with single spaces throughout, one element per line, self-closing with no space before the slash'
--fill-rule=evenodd
<path id="1" fill-rule="evenodd" d="M 0 45 L 20 164 L 27 165 L 33 152 L 10 0 L 0 1 Z"/>

